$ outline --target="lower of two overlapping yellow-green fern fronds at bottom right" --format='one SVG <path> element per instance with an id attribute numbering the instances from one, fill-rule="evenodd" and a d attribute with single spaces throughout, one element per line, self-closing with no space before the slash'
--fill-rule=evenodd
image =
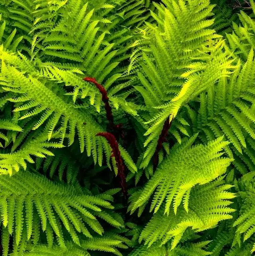
<path id="1" fill-rule="evenodd" d="M 190 195 L 188 212 L 181 207 L 177 214 L 170 210 L 168 215 L 164 215 L 161 207 L 142 231 L 140 241 L 144 240 L 151 246 L 157 240 L 165 244 L 172 239 L 171 249 L 174 249 L 188 227 L 192 227 L 193 232 L 200 232 L 215 227 L 221 220 L 232 218 L 231 213 L 235 210 L 228 206 L 232 203 L 229 199 L 235 195 L 225 191 L 229 188 L 231 186 L 222 185 L 220 179 L 196 186 Z"/>

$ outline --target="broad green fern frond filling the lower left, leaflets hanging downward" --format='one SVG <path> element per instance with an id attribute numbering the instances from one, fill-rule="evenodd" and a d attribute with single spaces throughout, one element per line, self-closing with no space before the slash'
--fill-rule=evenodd
<path id="1" fill-rule="evenodd" d="M 21 241 L 22 230 L 26 226 L 27 239 L 30 240 L 34 229 L 35 216 L 40 216 L 41 229 L 45 231 L 50 225 L 56 236 L 61 237 L 58 219 L 63 222 L 63 227 L 71 234 L 73 241 L 77 241 L 77 233 L 89 236 L 87 227 L 102 234 L 98 230 L 100 226 L 95 217 L 96 214 L 113 226 L 121 226 L 118 220 L 107 212 L 101 211 L 101 207 L 109 208 L 111 204 L 100 196 L 90 196 L 79 192 L 74 186 L 53 183 L 45 177 L 29 172 L 20 172 L 8 178 L 1 176 L 1 216 L 2 223 L 8 230 L 15 230 L 17 245 Z M 20 187 L 18 187 L 18 185 Z M 14 187 L 16 187 L 14 189 Z M 99 208 L 100 207 L 100 208 Z M 25 209 L 23 211 L 23 209 Z M 93 210 L 91 210 L 93 209 Z M 15 222 L 13 220 L 13 212 Z M 10 221 L 9 221 L 10 220 Z M 122 222 L 121 218 L 120 221 Z M 86 227 L 87 226 L 87 227 Z M 62 227 L 62 228 L 63 228 Z"/>

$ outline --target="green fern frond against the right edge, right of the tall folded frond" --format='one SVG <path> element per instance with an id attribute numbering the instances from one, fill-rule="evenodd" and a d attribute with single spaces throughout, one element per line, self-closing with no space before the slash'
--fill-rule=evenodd
<path id="1" fill-rule="evenodd" d="M 224 135 L 231 142 L 227 150 L 230 157 L 235 152 L 244 158 L 245 151 L 249 152 L 247 139 L 254 138 L 253 90 L 250 88 L 254 79 L 253 64 L 251 50 L 243 68 L 235 70 L 229 79 L 221 78 L 215 90 L 203 92 L 198 99 L 200 109 L 196 129 L 204 133 L 200 134 L 201 138 L 206 138 L 204 142 Z M 240 66 L 240 62 L 237 65 Z M 247 72 L 250 73 L 248 80 L 244 78 Z"/>

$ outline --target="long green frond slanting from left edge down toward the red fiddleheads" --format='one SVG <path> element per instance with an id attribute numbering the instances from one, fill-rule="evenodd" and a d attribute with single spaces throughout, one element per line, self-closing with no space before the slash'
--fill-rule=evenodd
<path id="1" fill-rule="evenodd" d="M 102 131 L 103 128 L 93 120 L 93 117 L 89 113 L 77 110 L 73 104 L 67 103 L 61 97 L 57 96 L 47 86 L 43 85 L 39 79 L 31 75 L 28 77 L 24 76 L 21 71 L 13 66 L 6 66 L 6 69 L 2 70 L 1 79 L 8 79 L 10 81 L 9 86 L 5 84 L 6 91 L 11 90 L 14 86 L 16 92 L 25 93 L 27 98 L 30 99 L 29 103 L 25 103 L 15 109 L 15 112 L 21 113 L 20 119 L 40 115 L 41 117 L 32 129 L 36 130 L 44 122 L 47 122 L 46 125 L 49 127 L 48 140 L 51 139 L 56 127 L 60 125 L 61 142 L 63 143 L 64 138 L 67 137 L 69 138 L 69 145 L 73 143 L 75 128 L 77 128 L 81 152 L 83 152 L 86 145 L 87 154 L 91 155 L 91 152 L 94 152 L 94 159 L 97 162 L 95 135 L 97 132 Z M 15 81 L 16 79 L 22 81 L 22 84 L 15 85 L 14 83 L 12 85 L 11 81 Z M 25 102 L 27 102 L 27 98 Z M 17 100 L 18 98 L 16 97 L 15 101 Z M 22 98 L 19 98 L 19 100 L 22 100 Z M 18 103 L 22 102 L 19 101 Z M 61 117 L 64 118 L 64 122 L 61 122 Z M 67 133 L 68 130 L 69 134 Z M 89 132 L 91 130 L 94 131 L 94 134 Z"/>

